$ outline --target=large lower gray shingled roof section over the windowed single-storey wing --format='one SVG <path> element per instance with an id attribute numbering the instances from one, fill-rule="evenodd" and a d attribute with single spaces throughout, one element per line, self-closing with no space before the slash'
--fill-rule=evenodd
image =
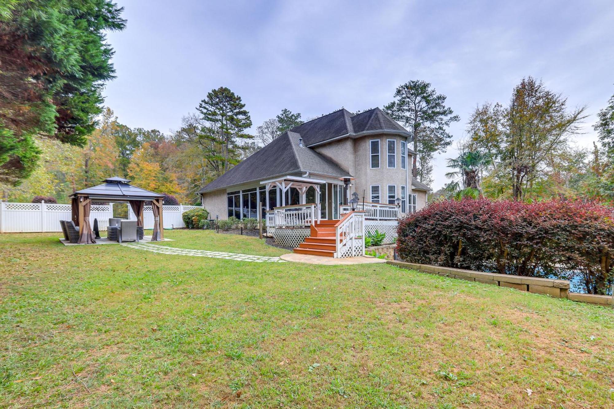
<path id="1" fill-rule="evenodd" d="M 198 193 L 225 189 L 247 182 L 259 182 L 271 176 L 313 172 L 333 177 L 349 177 L 348 172 L 305 146 L 298 146 L 298 133 L 287 131 L 249 158 L 209 182 Z"/>

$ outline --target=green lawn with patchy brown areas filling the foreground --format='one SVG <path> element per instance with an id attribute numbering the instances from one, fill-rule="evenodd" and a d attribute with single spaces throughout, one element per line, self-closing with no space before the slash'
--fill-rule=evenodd
<path id="1" fill-rule="evenodd" d="M 166 246 L 283 252 L 165 235 Z M 0 235 L 0 407 L 614 406 L 612 309 L 389 265 L 57 236 Z"/>

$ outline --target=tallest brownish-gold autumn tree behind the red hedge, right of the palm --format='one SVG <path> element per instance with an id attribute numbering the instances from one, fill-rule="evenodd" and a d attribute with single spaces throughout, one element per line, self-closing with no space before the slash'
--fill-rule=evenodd
<path id="1" fill-rule="evenodd" d="M 542 197 L 574 155 L 569 136 L 580 130 L 584 112 L 567 109 L 567 98 L 532 77 L 514 88 L 508 107 L 478 107 L 467 127 L 468 146 L 488 151 L 496 164 L 484 188 L 515 200 Z"/>

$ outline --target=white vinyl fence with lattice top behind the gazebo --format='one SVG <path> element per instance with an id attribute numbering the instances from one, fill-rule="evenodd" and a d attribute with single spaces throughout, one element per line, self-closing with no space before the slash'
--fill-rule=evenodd
<path id="1" fill-rule="evenodd" d="M 164 227 L 185 227 L 183 212 L 202 206 L 163 206 Z M 98 219 L 99 230 L 107 230 L 109 218 L 113 217 L 113 204 L 96 204 L 90 208 L 90 222 Z M 128 206 L 128 219 L 136 216 Z M 60 220 L 71 220 L 70 204 L 54 203 L 9 203 L 0 201 L 0 233 L 61 232 Z M 151 206 L 143 209 L 145 228 L 153 228 Z"/>

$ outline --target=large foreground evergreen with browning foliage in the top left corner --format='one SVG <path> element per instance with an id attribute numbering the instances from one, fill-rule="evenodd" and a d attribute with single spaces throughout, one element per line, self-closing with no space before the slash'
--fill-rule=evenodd
<path id="1" fill-rule="evenodd" d="M 121 30 L 110 0 L 36 0 L 0 6 L 0 182 L 36 168 L 34 137 L 84 146 L 113 78 L 104 32 Z"/>

